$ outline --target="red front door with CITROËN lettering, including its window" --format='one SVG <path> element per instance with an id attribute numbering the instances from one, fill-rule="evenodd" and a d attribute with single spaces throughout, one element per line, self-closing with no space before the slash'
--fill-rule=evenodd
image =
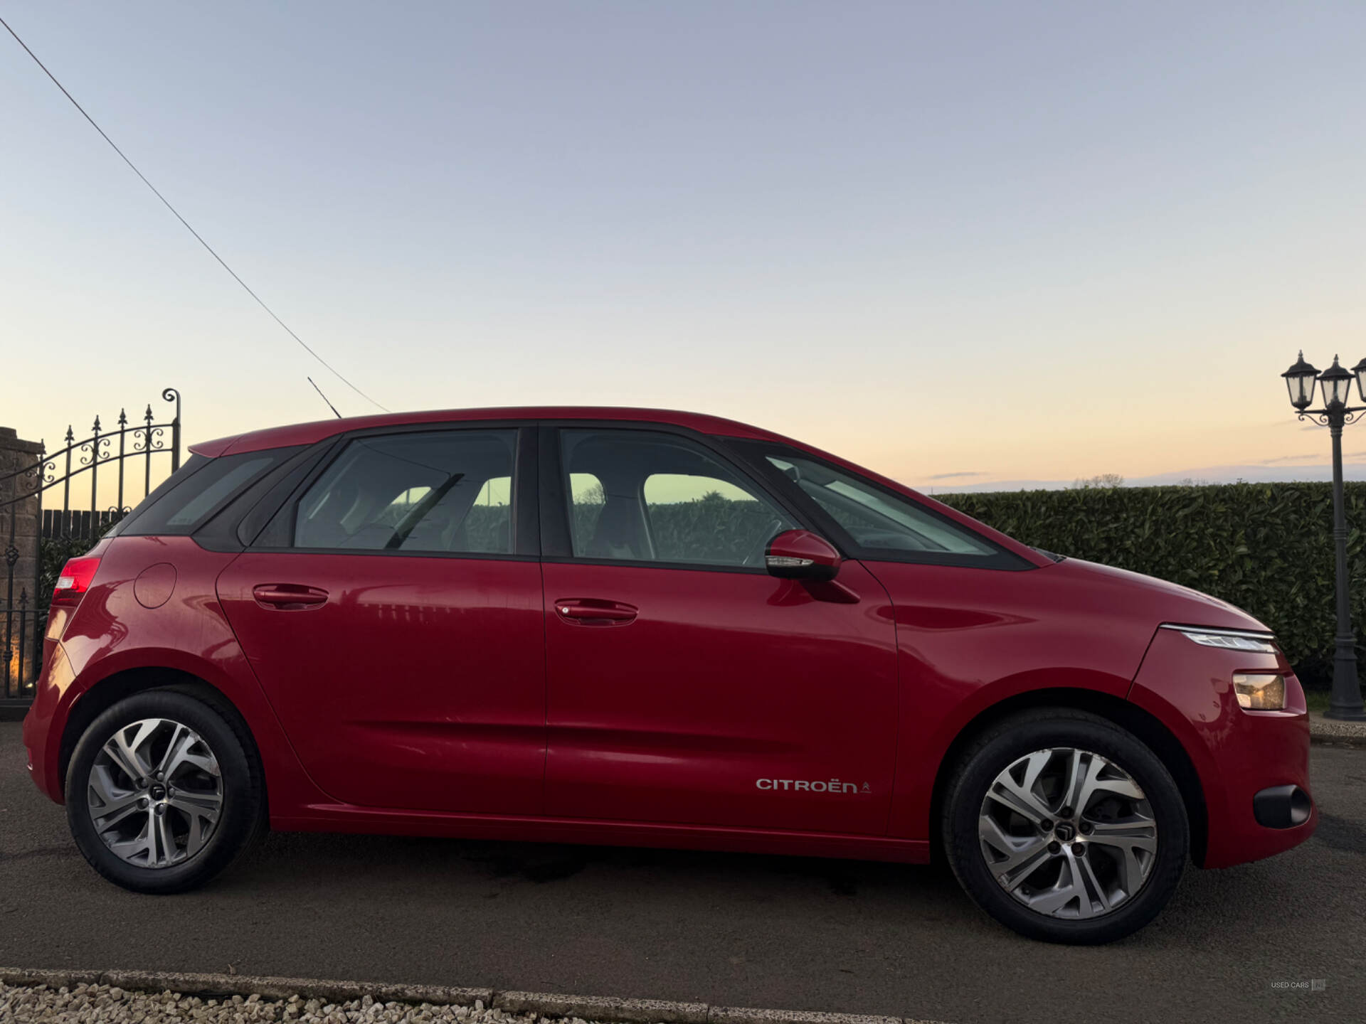
<path id="1" fill-rule="evenodd" d="M 882 834 L 897 674 L 885 591 L 764 569 L 794 515 L 702 438 L 542 445 L 546 814 Z"/>

